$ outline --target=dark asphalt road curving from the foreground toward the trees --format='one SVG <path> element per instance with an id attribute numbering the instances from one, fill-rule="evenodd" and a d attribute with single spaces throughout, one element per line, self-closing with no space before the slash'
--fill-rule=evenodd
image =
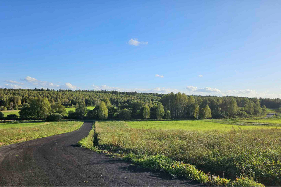
<path id="1" fill-rule="evenodd" d="M 202 186 L 79 147 L 91 129 L 0 147 L 0 186 Z"/>

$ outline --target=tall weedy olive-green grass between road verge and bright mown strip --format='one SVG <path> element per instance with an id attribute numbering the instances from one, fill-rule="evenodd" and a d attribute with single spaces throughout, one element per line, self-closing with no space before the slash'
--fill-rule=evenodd
<path id="1" fill-rule="evenodd" d="M 129 128 L 124 122 L 96 122 L 99 148 L 136 159 L 163 155 L 205 173 L 234 180 L 241 175 L 280 186 L 281 130 L 186 131 Z"/>

